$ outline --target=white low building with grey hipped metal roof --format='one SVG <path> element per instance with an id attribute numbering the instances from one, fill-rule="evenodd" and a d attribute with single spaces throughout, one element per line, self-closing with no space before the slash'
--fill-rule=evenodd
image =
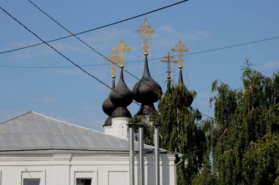
<path id="1" fill-rule="evenodd" d="M 135 143 L 135 184 L 138 174 Z M 145 184 L 154 184 L 145 146 Z M 29 112 L 0 124 L 0 185 L 128 185 L 128 140 Z M 160 152 L 160 184 L 174 184 L 174 154 Z"/>

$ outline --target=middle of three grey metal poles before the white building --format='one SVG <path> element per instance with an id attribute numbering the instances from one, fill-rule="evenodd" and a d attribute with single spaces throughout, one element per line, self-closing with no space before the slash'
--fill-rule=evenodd
<path id="1" fill-rule="evenodd" d="M 140 172 L 139 185 L 144 185 L 144 123 L 139 123 Z"/>

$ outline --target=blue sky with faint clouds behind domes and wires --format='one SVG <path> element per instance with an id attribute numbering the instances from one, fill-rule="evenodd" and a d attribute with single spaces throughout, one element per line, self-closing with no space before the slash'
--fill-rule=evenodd
<path id="1" fill-rule="evenodd" d="M 73 33 L 94 29 L 177 2 L 32 1 Z M 43 40 L 69 35 L 27 0 L 0 0 L 0 6 Z M 213 116 L 213 110 L 209 107 L 213 81 L 218 79 L 220 83 L 227 83 L 231 88 L 241 88 L 241 74 L 246 58 L 255 70 L 271 77 L 279 68 L 279 38 L 241 47 L 191 53 L 278 37 L 278 7 L 278 0 L 190 0 L 145 16 L 156 31 L 149 42 L 151 76 L 165 90 L 167 66 L 158 59 L 152 59 L 166 56 L 181 40 L 190 49 L 189 55 L 184 57 L 183 78 L 187 88 L 197 92 L 193 106 L 202 113 Z M 125 53 L 125 69 L 140 79 L 144 67 L 144 51 L 141 49 L 141 36 L 135 31 L 143 24 L 145 17 L 84 33 L 78 37 L 105 56 L 112 54 L 112 47 L 123 39 L 132 48 L 132 51 Z M 2 10 L 0 25 L 0 52 L 40 42 Z M 111 86 L 110 63 L 80 41 L 71 37 L 50 45 L 78 65 L 96 65 L 84 67 L 84 70 Z M 0 122 L 35 111 L 103 131 L 107 115 L 103 113 L 101 106 L 110 94 L 110 89 L 77 67 L 70 66 L 72 64 L 46 45 L 0 54 Z M 174 83 L 178 81 L 178 74 L 178 65 L 173 65 L 171 76 Z M 119 69 L 116 71 L 116 83 L 118 79 Z M 130 89 L 137 82 L 137 79 L 126 72 L 124 80 Z M 128 109 L 134 115 L 139 106 L 131 104 Z"/>

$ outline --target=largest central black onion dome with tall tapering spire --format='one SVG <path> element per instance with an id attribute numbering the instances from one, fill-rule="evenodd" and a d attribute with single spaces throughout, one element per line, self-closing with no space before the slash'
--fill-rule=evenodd
<path id="1" fill-rule="evenodd" d="M 162 88 L 151 78 L 146 55 L 142 79 L 138 81 L 133 88 L 134 99 L 136 102 L 142 104 L 151 104 L 158 101 L 158 97 L 161 93 Z"/>

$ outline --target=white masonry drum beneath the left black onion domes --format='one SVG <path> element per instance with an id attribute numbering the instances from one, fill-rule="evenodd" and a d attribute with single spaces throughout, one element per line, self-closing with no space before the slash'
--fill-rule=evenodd
<path id="1" fill-rule="evenodd" d="M 111 136 L 128 139 L 128 127 L 127 127 L 128 123 L 129 123 L 129 118 L 126 117 L 112 118 L 112 125 L 105 126 L 104 132 L 105 134 L 109 134 Z"/>

